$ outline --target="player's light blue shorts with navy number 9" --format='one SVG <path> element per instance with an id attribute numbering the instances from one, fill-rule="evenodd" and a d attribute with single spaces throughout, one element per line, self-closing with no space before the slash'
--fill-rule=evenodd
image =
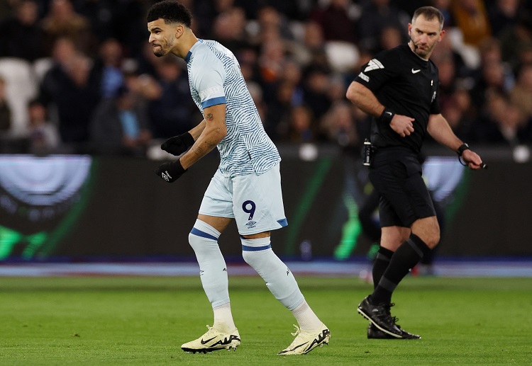
<path id="1" fill-rule="evenodd" d="M 235 219 L 240 235 L 287 226 L 279 164 L 260 176 L 253 173 L 227 178 L 216 170 L 201 201 L 199 213 Z"/>

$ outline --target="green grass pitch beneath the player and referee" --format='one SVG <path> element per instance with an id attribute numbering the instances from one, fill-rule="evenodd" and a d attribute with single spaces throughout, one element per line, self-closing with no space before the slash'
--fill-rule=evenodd
<path id="1" fill-rule="evenodd" d="M 368 340 L 358 278 L 296 276 L 331 344 L 278 356 L 292 314 L 257 277 L 231 278 L 242 345 L 184 353 L 212 325 L 199 278 L 0 279 L 0 365 L 531 365 L 530 278 L 405 278 L 392 314 L 419 341 Z"/>

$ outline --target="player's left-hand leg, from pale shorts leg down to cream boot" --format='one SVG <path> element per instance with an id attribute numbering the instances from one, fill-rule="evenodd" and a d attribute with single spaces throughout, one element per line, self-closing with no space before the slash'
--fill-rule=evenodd
<path id="1" fill-rule="evenodd" d="M 209 330 L 200 338 L 182 345 L 188 352 L 235 349 L 240 345 L 240 335 L 231 314 L 226 261 L 218 246 L 218 237 L 232 220 L 231 195 L 224 189 L 225 183 L 221 175 L 215 174 L 189 234 L 189 243 L 199 264 L 201 285 L 212 304 L 214 325 L 208 326 Z"/>

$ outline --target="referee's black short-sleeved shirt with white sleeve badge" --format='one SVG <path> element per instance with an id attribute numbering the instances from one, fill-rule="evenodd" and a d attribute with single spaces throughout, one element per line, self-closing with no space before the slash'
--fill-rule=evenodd
<path id="1" fill-rule="evenodd" d="M 426 137 L 428 117 L 439 114 L 438 67 L 418 57 L 408 45 L 379 52 L 362 66 L 355 81 L 369 88 L 380 103 L 399 115 L 414 118 L 414 132 L 401 137 L 389 124 L 374 118 L 371 141 L 376 147 L 409 147 L 418 154 Z"/>

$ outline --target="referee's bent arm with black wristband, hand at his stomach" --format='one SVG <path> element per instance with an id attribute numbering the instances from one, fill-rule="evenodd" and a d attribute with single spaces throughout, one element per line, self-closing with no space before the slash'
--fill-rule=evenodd
<path id="1" fill-rule="evenodd" d="M 414 118 L 406 115 L 397 115 L 392 110 L 388 110 L 382 105 L 375 94 L 358 81 L 353 81 L 345 96 L 355 104 L 362 112 L 372 115 L 383 122 L 389 123 L 392 130 L 401 137 L 405 137 L 414 132 Z"/>

